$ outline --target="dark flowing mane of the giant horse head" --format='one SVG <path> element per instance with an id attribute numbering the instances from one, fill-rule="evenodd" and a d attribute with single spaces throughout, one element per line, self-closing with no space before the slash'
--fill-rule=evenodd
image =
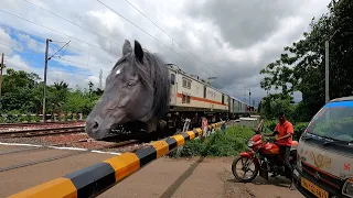
<path id="1" fill-rule="evenodd" d="M 145 86 L 154 88 L 153 106 L 150 113 L 145 118 L 163 118 L 169 111 L 170 98 L 170 79 L 167 64 L 164 64 L 164 62 L 157 54 L 151 54 L 147 50 L 143 50 L 143 64 L 141 64 L 136 58 L 133 52 L 131 52 L 122 56 L 113 70 L 125 61 L 129 62 L 129 64 L 135 67 L 139 79 Z"/>

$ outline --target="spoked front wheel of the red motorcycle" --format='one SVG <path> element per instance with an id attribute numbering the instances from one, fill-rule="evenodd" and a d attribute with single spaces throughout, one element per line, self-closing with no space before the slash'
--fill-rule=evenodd
<path id="1" fill-rule="evenodd" d="M 250 168 L 250 166 L 254 165 L 254 168 Z M 258 174 L 258 165 L 254 162 L 254 158 L 249 157 L 243 157 L 238 156 L 233 161 L 232 164 L 232 172 L 234 177 L 240 182 L 240 183 L 248 183 L 252 182 Z M 238 174 L 237 170 L 243 170 L 244 174 Z M 250 173 L 248 177 L 246 177 L 246 174 Z"/>

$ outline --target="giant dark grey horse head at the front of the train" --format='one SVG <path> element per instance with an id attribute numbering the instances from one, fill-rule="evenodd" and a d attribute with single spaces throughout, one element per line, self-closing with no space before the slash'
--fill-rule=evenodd
<path id="1" fill-rule="evenodd" d="M 122 124 L 132 121 L 156 129 L 157 121 L 169 111 L 169 89 L 165 64 L 143 51 L 139 42 L 135 41 L 132 50 L 126 40 L 122 57 L 113 67 L 104 94 L 86 119 L 88 136 L 95 140 L 116 136 Z"/>

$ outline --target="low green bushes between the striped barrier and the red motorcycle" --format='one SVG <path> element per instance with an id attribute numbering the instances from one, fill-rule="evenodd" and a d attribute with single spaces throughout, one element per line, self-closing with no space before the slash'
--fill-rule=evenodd
<path id="1" fill-rule="evenodd" d="M 224 133 L 218 130 L 211 134 L 203 143 L 200 140 L 185 142 L 179 155 L 176 148 L 169 154 L 172 157 L 204 156 L 235 156 L 246 150 L 247 141 L 254 135 L 247 127 L 233 125 Z"/>

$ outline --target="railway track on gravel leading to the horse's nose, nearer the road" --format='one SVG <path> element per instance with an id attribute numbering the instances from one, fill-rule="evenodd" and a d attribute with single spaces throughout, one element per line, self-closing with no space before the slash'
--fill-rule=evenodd
<path id="1" fill-rule="evenodd" d="M 68 127 L 68 128 L 46 128 L 46 129 L 22 130 L 22 131 L 3 131 L 3 132 L 0 132 L 0 138 L 31 138 L 31 136 L 65 134 L 65 133 L 79 133 L 84 131 L 85 131 L 84 125 Z"/>

